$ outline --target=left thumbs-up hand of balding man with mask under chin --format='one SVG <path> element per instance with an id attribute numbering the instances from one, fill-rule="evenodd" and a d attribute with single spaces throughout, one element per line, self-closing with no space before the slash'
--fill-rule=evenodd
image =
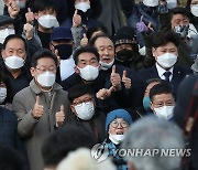
<path id="1" fill-rule="evenodd" d="M 116 65 L 112 66 L 111 72 L 111 84 L 116 89 L 121 89 L 121 77 L 118 73 L 116 73 Z"/>

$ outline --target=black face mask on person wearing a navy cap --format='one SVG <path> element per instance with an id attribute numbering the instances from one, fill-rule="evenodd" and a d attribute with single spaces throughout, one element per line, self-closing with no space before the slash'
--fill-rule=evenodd
<path id="1" fill-rule="evenodd" d="M 73 45 L 69 44 L 56 45 L 55 49 L 58 51 L 61 60 L 67 60 L 73 54 Z"/>

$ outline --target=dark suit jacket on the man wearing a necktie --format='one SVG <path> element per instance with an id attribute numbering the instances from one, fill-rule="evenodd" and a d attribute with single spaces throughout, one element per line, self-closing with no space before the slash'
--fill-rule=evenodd
<path id="1" fill-rule="evenodd" d="M 180 82 L 193 72 L 188 68 L 184 68 L 179 65 L 175 65 L 173 70 L 173 78 L 170 81 L 170 86 L 173 87 L 173 93 L 176 96 L 177 88 Z M 151 78 L 160 78 L 156 66 L 148 67 L 146 70 L 136 72 L 132 77 L 132 93 L 133 99 L 132 104 L 135 107 L 142 106 L 142 99 L 144 96 L 146 81 Z"/>

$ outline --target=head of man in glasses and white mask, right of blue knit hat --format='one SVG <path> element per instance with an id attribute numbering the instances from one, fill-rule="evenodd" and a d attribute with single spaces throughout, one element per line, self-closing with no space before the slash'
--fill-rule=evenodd
<path id="1" fill-rule="evenodd" d="M 175 98 L 167 83 L 154 85 L 150 91 L 150 99 L 151 109 L 158 118 L 172 119 Z"/>

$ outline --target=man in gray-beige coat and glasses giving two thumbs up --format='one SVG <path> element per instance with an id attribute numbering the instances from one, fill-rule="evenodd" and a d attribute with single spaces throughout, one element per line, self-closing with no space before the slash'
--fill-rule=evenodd
<path id="1" fill-rule="evenodd" d="M 37 51 L 31 63 L 30 86 L 13 98 L 18 132 L 28 151 L 31 170 L 43 169 L 43 141 L 61 127 L 69 111 L 67 92 L 55 83 L 57 57 L 46 49 Z"/>

